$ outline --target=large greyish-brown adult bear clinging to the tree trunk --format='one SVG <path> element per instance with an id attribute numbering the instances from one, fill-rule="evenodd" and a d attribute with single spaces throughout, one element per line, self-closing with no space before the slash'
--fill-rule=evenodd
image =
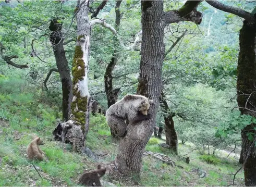
<path id="1" fill-rule="evenodd" d="M 148 110 L 153 100 L 143 95 L 126 95 L 120 101 L 111 105 L 106 111 L 106 121 L 114 134 L 119 137 L 126 135 L 129 123 L 137 123 L 150 119 Z"/>

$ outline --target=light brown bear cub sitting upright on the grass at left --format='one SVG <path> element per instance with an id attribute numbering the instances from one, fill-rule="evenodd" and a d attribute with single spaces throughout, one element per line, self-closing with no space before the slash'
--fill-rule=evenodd
<path id="1" fill-rule="evenodd" d="M 30 160 L 44 160 L 43 152 L 39 145 L 43 145 L 44 142 L 39 137 L 35 137 L 34 140 L 27 147 L 27 155 Z"/>

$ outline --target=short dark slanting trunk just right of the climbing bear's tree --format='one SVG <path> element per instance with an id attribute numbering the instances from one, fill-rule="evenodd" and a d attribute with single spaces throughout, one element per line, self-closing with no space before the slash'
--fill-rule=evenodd
<path id="1" fill-rule="evenodd" d="M 174 128 L 173 114 L 169 111 L 169 106 L 165 100 L 164 93 L 161 94 L 161 102 L 163 103 L 163 110 L 165 112 L 164 122 L 165 122 L 165 137 L 166 144 L 170 146 L 176 154 L 178 154 L 178 137 Z"/>

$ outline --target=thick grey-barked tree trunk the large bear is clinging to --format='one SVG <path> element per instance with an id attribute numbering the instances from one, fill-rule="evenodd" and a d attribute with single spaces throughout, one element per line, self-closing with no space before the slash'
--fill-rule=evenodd
<path id="1" fill-rule="evenodd" d="M 137 94 L 153 99 L 150 120 L 129 123 L 120 140 L 115 164 L 125 176 L 140 177 L 142 155 L 155 127 L 156 111 L 162 90 L 162 65 L 165 47 L 163 1 L 142 1 L 142 47 Z"/>

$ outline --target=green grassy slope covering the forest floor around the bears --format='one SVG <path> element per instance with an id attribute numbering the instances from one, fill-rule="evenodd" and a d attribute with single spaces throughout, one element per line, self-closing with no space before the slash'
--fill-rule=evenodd
<path id="1" fill-rule="evenodd" d="M 72 152 L 69 145 L 53 141 L 52 131 L 61 116 L 58 107 L 47 105 L 45 99 L 42 103 L 41 95 L 37 95 L 34 89 L 31 93 L 32 89 L 21 80 L 0 77 L 0 87 L 0 186 L 72 186 L 77 185 L 83 170 L 95 168 L 97 164 L 92 159 Z M 49 160 L 48 163 L 33 162 L 43 180 L 26 159 L 26 147 L 35 134 L 44 139 L 45 144 L 41 148 Z M 216 158 L 216 165 L 206 164 L 196 151 L 189 154 L 190 164 L 187 165 L 172 152 L 159 147 L 157 143 L 160 142 L 163 141 L 152 138 L 146 150 L 168 155 L 184 169 L 164 164 L 152 156 L 144 156 L 142 186 L 223 186 L 232 182 L 230 173 L 240 167 L 237 160 L 224 158 Z M 87 146 L 95 153 L 107 153 L 101 161 L 114 160 L 116 144 L 118 142 L 111 138 L 104 116 L 91 117 Z M 180 155 L 190 150 L 189 145 L 179 145 Z M 206 171 L 205 178 L 199 178 L 196 172 L 191 171 L 198 167 Z M 103 179 L 109 180 L 107 175 Z M 109 182 L 132 184 L 129 180 L 121 180 L 120 184 L 119 181 Z M 242 172 L 237 174 L 235 183 L 244 185 Z"/>

